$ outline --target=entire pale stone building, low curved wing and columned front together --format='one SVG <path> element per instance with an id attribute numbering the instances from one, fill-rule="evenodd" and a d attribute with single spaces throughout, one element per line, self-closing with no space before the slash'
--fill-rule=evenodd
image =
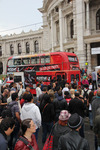
<path id="1" fill-rule="evenodd" d="M 39 11 L 43 30 L 0 37 L 4 74 L 9 56 L 27 52 L 74 52 L 88 72 L 100 65 L 100 0 L 44 0 Z"/>

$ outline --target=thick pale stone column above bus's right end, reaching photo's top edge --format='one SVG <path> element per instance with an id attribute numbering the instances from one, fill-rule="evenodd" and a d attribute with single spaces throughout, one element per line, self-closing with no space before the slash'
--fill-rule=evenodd
<path id="1" fill-rule="evenodd" d="M 77 52 L 80 67 L 85 67 L 83 0 L 76 0 Z"/>

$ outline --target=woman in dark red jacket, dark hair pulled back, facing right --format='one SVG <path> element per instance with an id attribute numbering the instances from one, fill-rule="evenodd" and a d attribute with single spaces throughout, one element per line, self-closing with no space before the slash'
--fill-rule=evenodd
<path id="1" fill-rule="evenodd" d="M 34 150 L 39 150 L 35 135 L 33 133 L 36 132 L 36 125 L 32 119 L 25 119 L 21 124 L 21 136 L 19 137 L 14 150 L 30 150 L 33 148 Z M 27 145 L 24 143 L 27 142 Z"/>

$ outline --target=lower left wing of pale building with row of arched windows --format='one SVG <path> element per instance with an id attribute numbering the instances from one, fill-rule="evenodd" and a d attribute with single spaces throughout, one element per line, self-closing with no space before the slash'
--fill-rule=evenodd
<path id="1" fill-rule="evenodd" d="M 43 30 L 22 32 L 0 39 L 0 74 L 6 74 L 7 60 L 11 56 L 43 53 Z"/>

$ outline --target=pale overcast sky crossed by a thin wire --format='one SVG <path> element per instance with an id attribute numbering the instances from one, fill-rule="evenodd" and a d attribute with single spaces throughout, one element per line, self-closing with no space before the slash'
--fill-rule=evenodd
<path id="1" fill-rule="evenodd" d="M 38 8 L 42 5 L 43 0 L 0 0 L 0 35 L 21 33 L 22 30 L 28 32 L 41 27 L 42 14 Z M 39 24 L 34 25 L 36 23 Z M 32 26 L 22 27 L 27 25 Z"/>

